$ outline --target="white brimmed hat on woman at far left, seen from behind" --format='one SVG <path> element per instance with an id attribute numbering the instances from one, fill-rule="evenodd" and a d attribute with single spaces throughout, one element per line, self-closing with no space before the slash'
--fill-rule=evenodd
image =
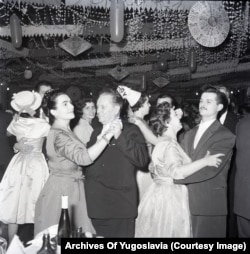
<path id="1" fill-rule="evenodd" d="M 42 97 L 34 91 L 22 91 L 13 94 L 11 107 L 19 113 L 34 115 L 35 110 L 41 106 Z"/>

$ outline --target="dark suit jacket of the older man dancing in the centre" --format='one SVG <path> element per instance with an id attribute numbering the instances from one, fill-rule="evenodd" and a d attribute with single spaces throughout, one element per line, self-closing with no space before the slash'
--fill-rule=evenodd
<path id="1" fill-rule="evenodd" d="M 91 135 L 96 142 L 102 127 Z M 137 216 L 136 169 L 147 166 L 148 151 L 139 128 L 123 123 L 117 140 L 112 139 L 99 158 L 86 169 L 85 192 L 90 218 L 114 219 Z"/>

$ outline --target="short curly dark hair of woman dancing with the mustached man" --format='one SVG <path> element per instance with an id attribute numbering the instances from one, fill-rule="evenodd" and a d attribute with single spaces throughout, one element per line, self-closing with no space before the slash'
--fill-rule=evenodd
<path id="1" fill-rule="evenodd" d="M 161 136 L 167 130 L 166 121 L 170 121 L 171 106 L 168 102 L 159 104 L 153 111 L 149 126 L 156 136 Z"/>

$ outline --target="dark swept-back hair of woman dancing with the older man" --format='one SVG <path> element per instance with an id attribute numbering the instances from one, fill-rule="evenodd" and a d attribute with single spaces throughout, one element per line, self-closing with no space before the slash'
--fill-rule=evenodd
<path id="1" fill-rule="evenodd" d="M 60 95 L 67 95 L 64 91 L 60 89 L 51 89 L 44 94 L 42 100 L 42 109 L 44 114 L 49 118 L 49 123 L 53 124 L 55 117 L 50 113 L 51 109 L 56 109 L 56 98 Z"/>

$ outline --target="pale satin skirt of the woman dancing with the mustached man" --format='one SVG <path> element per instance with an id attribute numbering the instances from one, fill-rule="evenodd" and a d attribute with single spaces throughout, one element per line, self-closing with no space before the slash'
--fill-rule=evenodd
<path id="1" fill-rule="evenodd" d="M 135 236 L 191 237 L 186 186 L 154 179 L 140 202 Z"/>

